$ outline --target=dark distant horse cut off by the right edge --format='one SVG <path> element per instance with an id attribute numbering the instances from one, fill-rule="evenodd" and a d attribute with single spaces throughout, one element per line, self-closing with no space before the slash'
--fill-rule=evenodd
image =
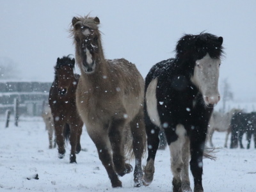
<path id="1" fill-rule="evenodd" d="M 231 143 L 230 148 L 244 148 L 242 143 L 243 134 L 246 133 L 247 147 L 250 148 L 252 135 L 254 135 L 254 145 L 256 148 L 256 112 L 235 113 L 231 120 Z"/>

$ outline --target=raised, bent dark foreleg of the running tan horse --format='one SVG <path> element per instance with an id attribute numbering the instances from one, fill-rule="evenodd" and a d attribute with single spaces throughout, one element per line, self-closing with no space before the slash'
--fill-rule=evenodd
<path id="1" fill-rule="evenodd" d="M 113 119 L 109 125 L 109 141 L 113 150 L 113 163 L 116 173 L 124 176 L 126 173 L 132 172 L 131 164 L 125 164 L 124 158 L 124 134 L 125 119 Z"/>

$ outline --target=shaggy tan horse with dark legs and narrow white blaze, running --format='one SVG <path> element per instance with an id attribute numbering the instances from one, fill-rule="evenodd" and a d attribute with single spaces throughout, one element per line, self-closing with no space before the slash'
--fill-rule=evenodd
<path id="1" fill-rule="evenodd" d="M 95 143 L 99 159 L 113 188 L 122 187 L 119 176 L 132 172 L 125 159 L 135 157 L 134 186 L 142 186 L 141 158 L 146 134 L 143 122 L 144 79 L 136 66 L 122 59 L 106 60 L 98 17 L 74 17 L 76 61 L 81 70 L 76 104 Z M 134 156 L 130 156 L 129 152 Z"/>

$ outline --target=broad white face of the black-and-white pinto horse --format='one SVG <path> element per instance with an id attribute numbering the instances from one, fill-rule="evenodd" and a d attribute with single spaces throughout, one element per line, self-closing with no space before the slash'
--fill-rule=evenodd
<path id="1" fill-rule="evenodd" d="M 204 97 L 205 104 L 217 104 L 220 100 L 218 79 L 220 59 L 214 59 L 207 53 L 201 60 L 196 60 L 191 81 L 198 87 Z"/>

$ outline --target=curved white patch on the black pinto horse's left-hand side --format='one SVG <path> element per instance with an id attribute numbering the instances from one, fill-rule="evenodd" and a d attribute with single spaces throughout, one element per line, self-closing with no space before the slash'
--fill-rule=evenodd
<path id="1" fill-rule="evenodd" d="M 148 84 L 147 92 L 146 92 L 146 105 L 147 112 L 150 120 L 153 124 L 161 127 L 158 111 L 157 111 L 157 99 L 156 99 L 156 86 L 157 86 L 157 78 L 153 79 L 150 84 Z"/>

